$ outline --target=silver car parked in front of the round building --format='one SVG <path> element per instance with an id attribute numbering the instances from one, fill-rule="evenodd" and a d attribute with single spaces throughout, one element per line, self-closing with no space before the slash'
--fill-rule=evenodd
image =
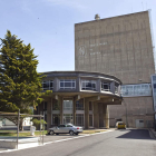
<path id="1" fill-rule="evenodd" d="M 79 133 L 82 133 L 82 127 L 75 126 L 72 124 L 61 124 L 57 127 L 49 128 L 48 134 L 49 135 L 58 135 L 58 134 L 70 134 L 70 135 L 78 135 Z"/>

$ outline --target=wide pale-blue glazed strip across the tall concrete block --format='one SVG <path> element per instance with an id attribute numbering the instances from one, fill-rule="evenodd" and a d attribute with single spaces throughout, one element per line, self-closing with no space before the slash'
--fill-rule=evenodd
<path id="1" fill-rule="evenodd" d="M 149 84 L 123 85 L 121 96 L 123 97 L 152 96 L 150 85 Z"/>

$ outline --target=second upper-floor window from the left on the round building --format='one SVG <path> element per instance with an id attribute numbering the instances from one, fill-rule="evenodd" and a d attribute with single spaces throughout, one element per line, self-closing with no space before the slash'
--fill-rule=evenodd
<path id="1" fill-rule="evenodd" d="M 76 89 L 75 79 L 62 79 L 60 80 L 60 89 Z"/>

